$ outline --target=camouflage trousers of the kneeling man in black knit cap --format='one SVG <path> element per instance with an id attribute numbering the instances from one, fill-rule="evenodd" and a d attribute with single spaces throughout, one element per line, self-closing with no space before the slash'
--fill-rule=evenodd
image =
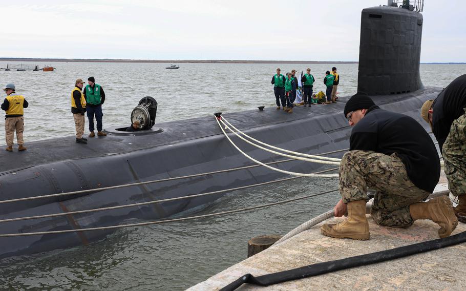
<path id="1" fill-rule="evenodd" d="M 413 224 L 409 205 L 430 195 L 409 180 L 396 153 L 388 156 L 372 151 L 349 151 L 343 156 L 339 188 L 345 203 L 368 200 L 367 190 L 376 190 L 371 216 L 378 225 L 393 227 Z"/>

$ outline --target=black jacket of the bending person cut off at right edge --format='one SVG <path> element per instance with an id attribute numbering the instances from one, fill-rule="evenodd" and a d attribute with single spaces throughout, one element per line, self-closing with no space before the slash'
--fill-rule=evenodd
<path id="1" fill-rule="evenodd" d="M 466 74 L 454 79 L 434 100 L 432 132 L 442 151 L 453 120 L 464 114 L 466 108 Z"/>

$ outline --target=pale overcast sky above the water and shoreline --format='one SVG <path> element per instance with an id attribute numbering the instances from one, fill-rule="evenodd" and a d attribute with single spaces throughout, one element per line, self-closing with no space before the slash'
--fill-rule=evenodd
<path id="1" fill-rule="evenodd" d="M 0 0 L 0 57 L 357 61 L 386 0 Z M 426 1 L 422 62 L 466 62 L 466 1 Z"/>

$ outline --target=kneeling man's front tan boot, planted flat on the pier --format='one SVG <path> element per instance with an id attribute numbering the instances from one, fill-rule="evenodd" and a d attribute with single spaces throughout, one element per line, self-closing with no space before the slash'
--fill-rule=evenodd
<path id="1" fill-rule="evenodd" d="M 369 222 L 366 218 L 366 200 L 348 202 L 348 217 L 337 224 L 324 224 L 321 233 L 333 238 L 352 238 L 367 240 Z"/>

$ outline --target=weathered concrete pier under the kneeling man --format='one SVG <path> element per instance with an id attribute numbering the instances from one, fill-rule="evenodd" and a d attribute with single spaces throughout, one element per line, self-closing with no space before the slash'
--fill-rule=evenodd
<path id="1" fill-rule="evenodd" d="M 436 191 L 440 190 L 444 189 L 436 189 Z M 323 236 L 319 230 L 321 223 L 227 268 L 188 290 L 218 290 L 247 273 L 254 276 L 266 275 L 438 238 L 438 225 L 429 220 L 417 220 L 408 228 L 393 228 L 378 226 L 370 215 L 367 216 L 370 224 L 370 240 L 357 241 Z M 342 218 L 333 218 L 326 222 L 340 220 Z M 459 223 L 452 235 L 464 231 L 466 224 Z M 463 243 L 441 250 L 268 287 L 244 284 L 238 290 L 465 290 L 466 279 L 463 276 L 465 260 L 466 244 Z"/>

